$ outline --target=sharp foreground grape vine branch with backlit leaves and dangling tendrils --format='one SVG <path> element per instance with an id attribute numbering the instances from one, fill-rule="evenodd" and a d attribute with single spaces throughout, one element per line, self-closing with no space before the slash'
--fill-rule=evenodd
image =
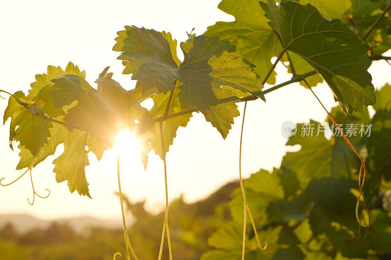
<path id="1" fill-rule="evenodd" d="M 92 152 L 101 160 L 104 151 L 115 144 L 119 131 L 130 129 L 142 141 L 140 160 L 145 168 L 148 153 L 152 150 L 163 161 L 165 218 L 158 260 L 162 259 L 166 236 L 169 259 L 172 260 L 166 154 L 173 144 L 176 131 L 180 126 L 186 127 L 192 113 L 200 112 L 225 139 L 234 118 L 240 114 L 236 103 L 244 102 L 239 144 L 239 184 L 243 208 L 240 211 L 243 212 L 240 257 L 244 260 L 247 256 L 247 214 L 258 248 L 264 251 L 271 244 L 266 241 L 262 246 L 257 218 L 250 211 L 242 180 L 242 138 L 247 102 L 258 99 L 266 101 L 266 94 L 300 82 L 319 101 L 361 163 L 356 172 L 359 190 L 355 215 L 359 229 L 358 235 L 353 235 L 351 241 L 364 241 L 370 231 L 371 217 L 364 197 L 366 159 L 312 88 L 326 82 L 345 116 L 377 105 L 368 68 L 373 60 L 391 60 L 382 55 L 391 48 L 391 2 L 335 0 L 332 1 L 335 9 L 329 8 L 331 3 L 326 0 L 314 1 L 315 6 L 308 2 L 280 0 L 276 4 L 275 0 L 222 0 L 219 8 L 236 20 L 217 22 L 208 27 L 203 35 L 195 36 L 193 31 L 188 33 L 189 39 L 179 44 L 183 61 L 177 57 L 177 40 L 173 40 L 170 33 L 125 26 L 125 30 L 117 33 L 113 51 L 120 52 L 117 59 L 122 60 L 124 65 L 122 73 L 131 74 L 131 79 L 136 80 L 136 86 L 131 91 L 112 79 L 113 73 L 109 73 L 109 67 L 99 74 L 94 82 L 96 87 L 93 87 L 85 80 L 86 73 L 72 62 L 65 70 L 48 66 L 46 73 L 36 75 L 27 96 L 22 91 L 11 94 L 0 90 L 0 94 L 10 96 L 4 123 L 11 119 L 10 148 L 13 149 L 14 141 L 19 141 L 21 158 L 17 169 L 27 168 L 11 182 L 4 184 L 2 178 L 0 185 L 11 185 L 30 172 L 33 198 L 32 202 L 28 202 L 32 205 L 35 196 L 47 198 L 50 195 L 48 189 L 47 196 L 35 191 L 32 169 L 53 155 L 58 145 L 64 144 L 63 154 L 53 161 L 56 180 L 66 180 L 71 193 L 77 191 L 91 198 L 85 175 L 85 168 L 89 164 L 87 154 Z M 277 59 L 271 64 L 273 57 Z M 292 78 L 276 84 L 275 69 L 281 62 Z M 263 80 L 260 80 L 261 76 Z M 264 89 L 266 83 L 274 86 Z M 140 104 L 146 99 L 153 100 L 154 105 L 150 110 Z M 384 117 L 385 114 L 383 122 Z M 373 149 L 370 145 L 369 142 L 369 150 Z M 375 163 L 378 161 L 375 160 Z M 137 260 L 126 227 L 118 148 L 117 177 L 126 258 L 130 260 L 132 256 Z M 318 184 L 315 179 L 304 180 L 301 189 L 310 193 L 310 185 Z M 294 198 L 299 197 L 293 195 Z M 360 207 L 363 208 L 361 213 Z M 361 227 L 367 228 L 363 238 L 360 236 Z M 113 259 L 116 256 L 121 257 L 121 254 L 114 254 Z"/>

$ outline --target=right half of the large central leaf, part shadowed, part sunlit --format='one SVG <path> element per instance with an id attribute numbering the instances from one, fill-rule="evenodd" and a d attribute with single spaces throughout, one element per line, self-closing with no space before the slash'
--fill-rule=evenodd
<path id="1" fill-rule="evenodd" d="M 255 94 L 264 100 L 258 75 L 252 71 L 252 64 L 240 58 L 235 46 L 218 37 L 197 36 L 182 42 L 181 49 L 185 55 L 179 68 L 181 107 L 199 110 L 225 139 L 239 112 L 234 102 L 221 103 L 233 100 L 234 94 L 220 86 Z"/>

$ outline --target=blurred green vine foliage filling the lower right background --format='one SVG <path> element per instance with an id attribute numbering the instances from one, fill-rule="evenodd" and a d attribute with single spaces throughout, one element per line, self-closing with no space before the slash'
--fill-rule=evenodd
<path id="1" fill-rule="evenodd" d="M 366 240 L 349 241 L 356 234 L 352 212 L 359 194 L 361 163 L 342 137 L 326 139 L 301 136 L 303 124 L 286 145 L 300 145 L 288 152 L 280 169 L 261 170 L 244 181 L 248 204 L 258 222 L 266 251 L 260 251 L 254 233 L 247 234 L 245 259 L 388 259 L 391 257 L 391 86 L 376 91 L 376 113 L 367 109 L 345 117 L 341 108 L 331 114 L 340 123 L 372 124 L 369 137 L 349 138 L 368 165 L 365 194 L 370 198 L 370 229 Z M 318 122 L 310 121 L 314 126 Z M 317 128 L 314 129 L 314 133 Z M 390 192 L 389 192 L 390 193 Z M 215 247 L 202 260 L 237 260 L 242 253 L 243 201 L 237 188 L 229 202 L 232 220 L 209 238 Z M 361 200 L 361 203 L 363 201 Z M 366 221 L 368 216 L 365 215 Z M 250 225 L 248 221 L 247 225 Z M 364 229 L 364 228 L 363 228 Z M 362 230 L 365 232 L 365 230 Z"/>

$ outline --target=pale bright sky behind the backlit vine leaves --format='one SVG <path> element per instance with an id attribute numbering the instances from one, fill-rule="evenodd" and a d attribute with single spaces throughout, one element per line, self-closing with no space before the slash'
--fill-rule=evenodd
<path id="1" fill-rule="evenodd" d="M 216 21 L 234 20 L 217 9 L 218 2 L 3 1 L 0 8 L 0 88 L 27 93 L 29 84 L 35 81 L 35 74 L 46 72 L 47 65 L 65 68 L 72 61 L 86 70 L 87 81 L 91 85 L 110 65 L 113 79 L 131 89 L 134 82 L 130 81 L 130 75 L 121 75 L 123 66 L 116 60 L 118 53 L 111 50 L 116 32 L 123 30 L 124 25 L 144 26 L 169 31 L 178 41 L 183 41 L 187 39 L 186 31 L 193 27 L 198 35 Z M 281 72 L 278 82 L 290 79 L 282 65 L 278 71 Z M 387 81 L 384 75 L 390 75 L 391 67 L 384 61 L 378 61 L 372 64 L 370 72 L 374 85 L 381 87 Z M 315 91 L 327 108 L 335 106 L 326 85 L 318 86 Z M 6 105 L 6 100 L 0 100 L 1 113 Z M 239 104 L 239 110 L 242 112 L 243 104 Z M 281 134 L 282 123 L 306 122 L 310 118 L 323 121 L 325 112 L 312 94 L 298 84 L 267 94 L 266 103 L 261 100 L 249 102 L 243 136 L 244 177 L 261 168 L 271 170 L 279 167 L 285 152 L 292 150 L 284 146 L 286 139 Z M 186 128 L 179 129 L 167 155 L 170 200 L 183 194 L 186 201 L 195 201 L 206 197 L 225 182 L 238 178 L 240 122 L 241 117 L 236 118 L 226 140 L 201 114 L 196 114 Z M 9 121 L 0 126 L 0 178 L 14 180 L 20 175 L 15 170 L 19 151 L 9 149 L 8 136 Z M 56 182 L 51 162 L 63 149 L 59 146 L 54 156 L 33 170 L 36 191 L 45 195 L 44 189 L 48 188 L 50 197 L 44 200 L 36 198 L 34 206 L 30 206 L 27 198 L 32 197 L 32 190 L 26 175 L 14 185 L 0 187 L 0 214 L 29 213 L 46 219 L 78 215 L 120 218 L 119 200 L 113 195 L 118 190 L 114 151 L 105 152 L 101 162 L 93 155 L 89 157 L 86 175 L 91 200 L 76 192 L 71 194 L 66 182 Z M 128 149 L 131 148 L 121 148 L 125 152 Z M 147 207 L 154 212 L 162 210 L 165 200 L 163 162 L 153 152 L 150 153 L 148 169 L 144 172 L 141 162 L 129 160 L 126 154 L 122 155 L 122 159 L 123 192 L 133 201 L 146 199 Z"/>

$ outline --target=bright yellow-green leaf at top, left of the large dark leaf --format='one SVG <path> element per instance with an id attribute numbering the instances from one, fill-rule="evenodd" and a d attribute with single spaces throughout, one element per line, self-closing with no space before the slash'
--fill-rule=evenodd
<path id="1" fill-rule="evenodd" d="M 256 65 L 256 73 L 266 76 L 272 67 L 270 60 L 279 55 L 282 45 L 276 33 L 267 25 L 268 20 L 264 17 L 259 0 L 222 0 L 218 8 L 234 16 L 235 21 L 219 21 L 209 26 L 204 34 L 207 37 L 217 35 L 222 40 L 229 40 L 238 47 L 244 59 Z M 275 82 L 276 73 L 273 71 L 267 83 Z"/>

